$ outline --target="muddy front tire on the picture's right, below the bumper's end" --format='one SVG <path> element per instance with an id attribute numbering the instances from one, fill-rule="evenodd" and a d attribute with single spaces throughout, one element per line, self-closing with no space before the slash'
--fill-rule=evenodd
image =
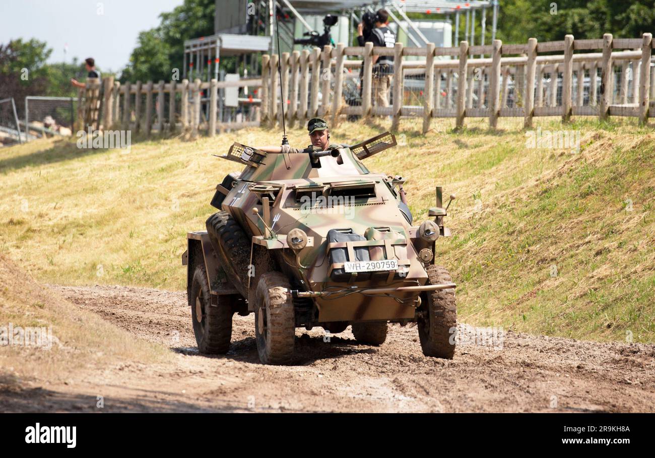
<path id="1" fill-rule="evenodd" d="M 450 273 L 440 265 L 428 267 L 428 284 L 450 283 Z M 455 343 L 451 343 L 453 330 L 457 328 L 457 305 L 455 289 L 426 291 L 421 296 L 421 311 L 424 319 L 419 320 L 419 339 L 425 356 L 452 359 Z"/>

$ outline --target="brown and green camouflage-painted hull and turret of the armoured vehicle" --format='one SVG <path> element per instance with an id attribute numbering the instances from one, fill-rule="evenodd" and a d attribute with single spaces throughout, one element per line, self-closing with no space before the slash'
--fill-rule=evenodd
<path id="1" fill-rule="evenodd" d="M 312 167 L 308 153 L 263 153 L 265 159 L 259 164 L 246 165 L 232 189 L 226 191 L 222 210 L 231 214 L 246 235 L 252 237 L 253 246 L 275 252 L 281 270 L 290 279 L 295 278 L 300 288 L 306 291 L 426 284 L 427 263 L 419 258 L 419 251 L 429 248 L 434 253 L 434 242 L 421 239 L 419 226 L 410 225 L 403 216 L 394 179 L 369 172 L 349 147 L 337 145 L 337 149 L 340 157 L 320 157 L 320 168 Z M 369 195 L 358 197 L 358 189 L 365 189 Z M 374 196 L 371 196 L 372 189 L 375 189 Z M 341 204 L 335 199 L 337 204 L 331 206 L 322 206 L 320 200 L 317 202 L 316 198 L 329 196 L 335 190 L 345 194 L 348 200 L 344 198 Z M 441 206 L 439 191 L 437 203 Z M 311 200 L 313 208 L 303 206 L 299 195 L 314 197 Z M 265 206 L 267 199 L 269 204 Z M 255 208 L 256 214 L 253 212 Z M 272 226 L 272 233 L 263 220 Z M 440 223 L 442 220 L 443 216 L 436 219 Z M 447 228 L 444 229 L 442 224 L 440 227 L 441 235 L 449 235 Z M 305 231 L 309 239 L 297 257 L 286 241 L 286 235 L 295 228 Z M 349 282 L 333 281 L 329 276 L 334 267 L 328 256 L 327 232 L 330 229 L 352 229 L 352 233 L 366 237 L 363 242 L 347 242 L 348 259 L 353 259 L 354 245 L 366 245 L 371 260 L 398 259 L 398 271 L 371 273 L 368 280 L 362 281 L 356 277 Z M 206 237 L 206 233 L 189 233 L 189 239 L 202 239 L 203 235 Z M 202 243 L 203 247 L 205 245 L 206 242 Z M 191 244 L 189 247 L 191 250 Z M 432 262 L 434 259 L 428 261 Z M 214 275 L 210 271 L 217 270 L 210 265 L 212 263 L 216 263 L 215 257 L 206 259 L 209 277 Z M 212 280 L 210 278 L 210 284 L 214 284 Z M 255 277 L 249 288 L 256 287 Z M 312 297 L 310 300 L 318 309 L 318 317 L 305 326 L 337 321 L 414 321 L 416 307 L 420 304 L 419 294 L 419 291 L 375 295 L 344 292 L 331 297 Z M 248 311 L 253 311 L 252 303 L 248 304 Z"/>

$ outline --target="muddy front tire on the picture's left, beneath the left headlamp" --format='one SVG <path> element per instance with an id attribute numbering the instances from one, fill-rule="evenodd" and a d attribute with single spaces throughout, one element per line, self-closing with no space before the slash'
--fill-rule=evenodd
<path id="1" fill-rule="evenodd" d="M 289 364 L 295 345 L 295 311 L 287 277 L 268 272 L 255 294 L 255 337 L 263 364 Z"/>

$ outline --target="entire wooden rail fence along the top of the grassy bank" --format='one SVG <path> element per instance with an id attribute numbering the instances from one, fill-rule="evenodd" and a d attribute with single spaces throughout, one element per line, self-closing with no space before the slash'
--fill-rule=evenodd
<path id="1" fill-rule="evenodd" d="M 495 128 L 499 117 L 560 116 L 636 117 L 645 123 L 655 116 L 655 71 L 650 33 L 638 39 L 614 38 L 506 45 L 394 48 L 336 47 L 262 56 L 262 75 L 240 81 L 148 81 L 124 83 L 113 77 L 87 84 L 81 106 L 85 125 L 156 131 L 216 132 L 286 122 L 293 126 L 311 117 L 384 116 L 392 130 L 401 117 L 422 119 L 422 131 L 436 117 L 453 117 L 457 128 L 467 117 L 487 117 Z M 373 94 L 373 56 L 394 56 L 390 104 L 378 106 Z M 477 57 L 476 57 L 477 56 Z M 487 57 L 488 56 L 488 57 Z M 402 65 L 398 63 L 402 62 Z M 278 63 L 282 81 L 278 77 Z M 281 86 L 280 86 L 281 84 Z M 225 89 L 240 88 L 238 108 L 228 117 Z M 95 91 L 102 88 L 102 91 Z M 280 89 L 282 94 L 280 95 Z M 102 94 L 101 94 L 102 92 Z M 248 94 L 246 96 L 246 94 Z M 231 105 L 231 106 L 234 106 Z M 98 117 L 102 116 L 100 119 Z"/>

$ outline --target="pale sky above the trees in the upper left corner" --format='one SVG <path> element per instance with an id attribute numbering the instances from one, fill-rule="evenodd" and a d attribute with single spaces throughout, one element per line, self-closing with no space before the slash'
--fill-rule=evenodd
<path id="1" fill-rule="evenodd" d="M 125 67 L 140 31 L 183 0 L 0 0 L 0 43 L 45 41 L 48 62 L 92 57 L 102 71 Z M 64 48 L 67 46 L 67 52 Z"/>

